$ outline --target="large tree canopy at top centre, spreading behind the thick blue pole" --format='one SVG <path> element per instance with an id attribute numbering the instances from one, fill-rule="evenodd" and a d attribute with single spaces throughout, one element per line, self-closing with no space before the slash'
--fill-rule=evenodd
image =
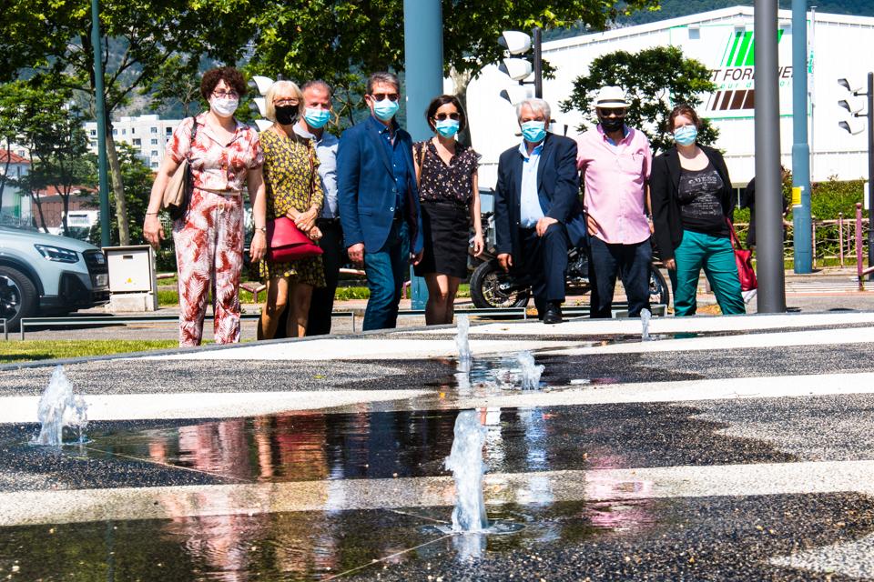
<path id="1" fill-rule="evenodd" d="M 354 123 L 364 76 L 403 70 L 402 0 L 251 0 L 258 30 L 249 68 L 263 75 L 305 81 L 321 78 L 335 88 L 335 109 Z M 534 25 L 559 28 L 582 21 L 600 30 L 617 15 L 655 9 L 658 0 L 442 0 L 444 73 L 466 89 L 470 75 L 503 57 L 503 30 Z"/>

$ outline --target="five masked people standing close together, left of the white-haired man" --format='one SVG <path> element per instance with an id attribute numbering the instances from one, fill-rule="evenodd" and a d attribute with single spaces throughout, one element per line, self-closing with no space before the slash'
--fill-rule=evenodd
<path id="1" fill-rule="evenodd" d="M 484 247 L 479 156 L 456 141 L 467 118 L 452 95 L 433 100 L 426 115 L 435 135 L 413 145 L 394 119 L 400 86 L 390 73 L 371 75 L 364 96 L 371 115 L 338 139 L 325 131 L 333 114 L 331 89 L 322 81 L 271 85 L 265 104 L 273 123 L 259 134 L 234 117 L 247 92 L 239 71 L 219 67 L 203 75 L 200 94 L 209 109 L 170 137 L 143 227 L 147 241 L 159 246 L 163 193 L 187 161 L 188 207 L 173 223 L 180 346 L 201 343 L 210 296 L 216 342 L 239 341 L 244 188 L 255 227 L 249 257 L 267 290 L 259 339 L 330 333 L 347 258 L 367 275 L 365 330 L 395 326 L 411 262 L 428 285 L 428 323 L 452 321 L 472 225 L 474 252 Z M 320 256 L 269 259 L 268 224 L 283 216 L 319 244 Z"/>

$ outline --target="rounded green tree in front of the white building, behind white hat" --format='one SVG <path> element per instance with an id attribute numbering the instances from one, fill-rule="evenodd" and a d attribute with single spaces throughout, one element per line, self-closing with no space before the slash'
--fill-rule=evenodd
<path id="1" fill-rule="evenodd" d="M 588 124 L 579 127 L 581 131 L 588 125 L 597 125 L 592 103 L 604 85 L 619 85 L 625 89 L 626 99 L 631 104 L 625 123 L 641 129 L 649 137 L 654 152 L 674 145 L 667 128 L 667 116 L 673 105 L 686 103 L 696 107 L 701 105 L 698 95 L 716 90 L 710 81 L 709 69 L 695 59 L 684 57 L 677 46 L 601 55 L 589 65 L 588 75 L 574 80 L 573 93 L 561 103 L 565 113 L 575 109 L 591 115 Z M 718 132 L 706 119 L 702 122 L 698 143 L 712 144 Z"/>

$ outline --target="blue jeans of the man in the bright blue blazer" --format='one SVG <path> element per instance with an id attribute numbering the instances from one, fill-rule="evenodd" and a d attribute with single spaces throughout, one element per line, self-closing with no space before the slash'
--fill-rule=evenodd
<path id="1" fill-rule="evenodd" d="M 371 290 L 364 311 L 364 331 L 397 326 L 401 287 L 409 267 L 409 228 L 405 222 L 395 220 L 380 250 L 371 253 L 364 249 L 364 272 Z"/>

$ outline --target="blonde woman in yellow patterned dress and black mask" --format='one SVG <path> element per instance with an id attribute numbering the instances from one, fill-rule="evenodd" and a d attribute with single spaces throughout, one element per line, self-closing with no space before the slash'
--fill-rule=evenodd
<path id="1" fill-rule="evenodd" d="M 264 151 L 264 182 L 267 185 L 267 219 L 288 216 L 314 241 L 321 238 L 316 218 L 321 215 L 323 194 L 317 168 L 319 158 L 310 139 L 297 135 L 294 125 L 302 113 L 303 95 L 298 85 L 277 81 L 265 95 L 267 117 L 274 122 L 261 132 Z M 261 310 L 259 339 L 276 334 L 281 316 L 289 307 L 286 335 L 302 337 L 307 331 L 307 314 L 313 287 L 325 286 L 321 256 L 288 263 L 265 258 L 260 275 L 267 285 L 267 299 Z"/>

